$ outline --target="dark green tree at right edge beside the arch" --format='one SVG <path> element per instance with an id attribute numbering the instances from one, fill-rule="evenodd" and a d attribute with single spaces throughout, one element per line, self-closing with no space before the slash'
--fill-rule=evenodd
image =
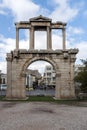
<path id="1" fill-rule="evenodd" d="M 83 68 L 75 76 L 75 82 L 80 83 L 81 91 L 87 93 L 87 59 L 81 61 L 83 63 Z"/>

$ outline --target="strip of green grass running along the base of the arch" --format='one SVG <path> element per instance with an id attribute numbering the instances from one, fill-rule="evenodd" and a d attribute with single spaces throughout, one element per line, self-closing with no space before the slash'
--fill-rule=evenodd
<path id="1" fill-rule="evenodd" d="M 0 97 L 0 101 L 10 101 L 10 102 L 51 102 L 56 103 L 58 105 L 70 105 L 70 106 L 81 106 L 81 107 L 87 107 L 87 100 L 55 100 L 51 96 L 43 96 L 43 95 L 37 95 L 37 96 L 29 96 L 27 100 L 6 100 L 4 96 Z"/>

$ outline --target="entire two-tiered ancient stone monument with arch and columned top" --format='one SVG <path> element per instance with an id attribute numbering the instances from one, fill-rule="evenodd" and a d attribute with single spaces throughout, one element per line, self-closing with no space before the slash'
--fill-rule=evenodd
<path id="1" fill-rule="evenodd" d="M 78 49 L 66 49 L 66 23 L 53 23 L 51 19 L 38 16 L 29 21 L 16 23 L 16 49 L 7 53 L 7 84 L 6 97 L 10 99 L 26 99 L 25 76 L 27 67 L 34 61 L 44 60 L 52 64 L 56 71 L 56 99 L 75 98 L 74 65 Z M 19 49 L 19 29 L 29 29 L 30 47 Z M 52 50 L 51 31 L 62 30 L 62 49 Z M 47 49 L 34 49 L 35 31 L 47 32 Z M 40 43 L 41 44 L 41 43 Z M 60 43 L 58 43 L 60 44 Z"/>

